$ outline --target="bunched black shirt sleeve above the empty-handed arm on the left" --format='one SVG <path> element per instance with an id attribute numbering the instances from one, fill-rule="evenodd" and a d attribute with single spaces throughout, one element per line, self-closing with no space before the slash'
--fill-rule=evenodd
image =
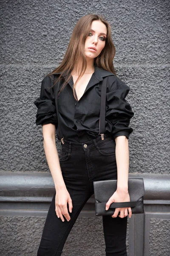
<path id="1" fill-rule="evenodd" d="M 57 127 L 57 112 L 54 99 L 54 87 L 50 76 L 45 76 L 41 83 L 40 98 L 34 101 L 37 109 L 36 125 L 54 124 Z"/>

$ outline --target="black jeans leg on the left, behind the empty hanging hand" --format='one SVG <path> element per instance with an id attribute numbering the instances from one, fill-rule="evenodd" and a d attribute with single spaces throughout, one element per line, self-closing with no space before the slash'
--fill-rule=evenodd
<path id="1" fill-rule="evenodd" d="M 60 166 L 65 186 L 70 194 L 73 209 L 70 221 L 57 218 L 55 195 L 51 201 L 45 221 L 38 256 L 59 256 L 79 213 L 91 197 L 90 183 L 85 163 L 84 151 L 71 151 L 69 145 L 62 146 Z"/>

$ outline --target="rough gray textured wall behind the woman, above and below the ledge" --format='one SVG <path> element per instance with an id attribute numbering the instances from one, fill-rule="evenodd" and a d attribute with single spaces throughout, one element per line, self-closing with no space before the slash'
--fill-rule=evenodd
<path id="1" fill-rule="evenodd" d="M 3 0 L 0 6 L 0 171 L 49 172 L 42 128 L 35 125 L 37 109 L 33 102 L 40 95 L 43 77 L 62 60 L 77 20 L 83 15 L 97 13 L 104 15 L 111 24 L 117 75 L 130 86 L 127 100 L 135 113 L 130 123 L 134 129 L 129 138 L 130 172 L 170 173 L 169 0 Z M 15 248 L 3 256 L 23 255 L 19 247 L 15 247 L 21 236 L 24 255 L 36 255 L 45 219 L 28 217 L 23 217 L 24 221 L 19 216 L 0 218 L 3 248 L 5 241 L 8 248 Z M 81 219 L 77 221 L 76 227 L 80 227 Z M 93 227 L 95 221 L 99 229 L 99 220 L 91 224 L 91 219 L 86 219 Z M 28 222 L 32 224 L 26 233 Z M 167 234 L 169 222 L 167 218 L 158 222 L 162 224 L 159 237 L 155 218 L 150 223 L 153 227 L 151 256 L 158 255 L 155 246 L 161 236 Z M 13 236 L 9 240 L 10 227 Z M 68 243 L 76 243 L 77 232 Z M 31 244 L 34 244 L 32 248 Z M 84 245 L 86 248 L 87 244 Z M 71 244 L 69 247 L 71 250 Z M 93 251 L 92 244 L 90 247 Z M 159 252 L 168 255 L 164 250 Z"/>

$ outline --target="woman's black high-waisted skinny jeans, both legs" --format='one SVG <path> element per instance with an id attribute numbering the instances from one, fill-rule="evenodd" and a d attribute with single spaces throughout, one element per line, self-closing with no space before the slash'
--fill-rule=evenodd
<path id="1" fill-rule="evenodd" d="M 72 199 L 71 220 L 57 218 L 55 194 L 52 199 L 37 256 L 60 256 L 62 248 L 85 203 L 94 194 L 93 181 L 117 179 L 115 142 L 105 135 L 86 143 L 62 144 L 60 166 Z M 97 218 L 97 217 L 96 217 Z M 106 256 L 127 256 L 127 217 L 103 216 Z M 83 227 L 82 227 L 83 228 Z M 95 253 L 93 253 L 94 256 Z"/>

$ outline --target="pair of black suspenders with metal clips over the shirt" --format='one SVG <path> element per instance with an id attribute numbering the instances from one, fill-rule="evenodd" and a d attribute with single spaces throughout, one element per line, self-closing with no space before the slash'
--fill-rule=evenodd
<path id="1" fill-rule="evenodd" d="M 108 81 L 108 77 L 105 80 L 103 80 L 102 89 L 101 89 L 100 117 L 99 117 L 99 134 L 101 135 L 102 140 L 104 140 L 104 134 L 105 134 L 105 111 L 106 111 L 107 81 Z M 62 134 L 62 129 L 60 127 L 59 110 L 58 110 L 59 83 L 60 83 L 60 79 L 59 79 L 59 82 L 58 82 L 58 89 L 57 89 L 56 111 L 57 111 L 59 134 L 60 134 L 60 138 L 61 138 L 62 144 L 64 144 L 64 136 Z"/>

